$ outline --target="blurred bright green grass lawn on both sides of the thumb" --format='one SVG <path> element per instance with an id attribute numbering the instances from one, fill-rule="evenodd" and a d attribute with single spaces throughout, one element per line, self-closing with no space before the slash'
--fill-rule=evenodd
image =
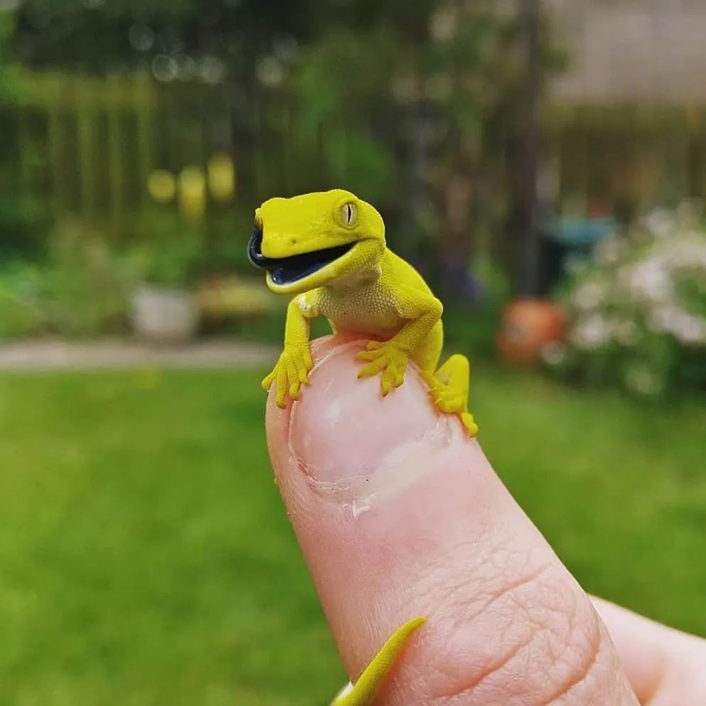
<path id="1" fill-rule="evenodd" d="M 706 407 L 476 372 L 488 456 L 584 587 L 706 633 Z M 0 705 L 327 702 L 258 379 L 0 376 Z"/>

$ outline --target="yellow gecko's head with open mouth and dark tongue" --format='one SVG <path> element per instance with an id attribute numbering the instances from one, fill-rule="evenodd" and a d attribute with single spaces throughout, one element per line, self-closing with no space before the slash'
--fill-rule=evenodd
<path id="1" fill-rule="evenodd" d="M 267 271 L 267 287 L 277 294 L 370 277 L 384 250 L 380 213 L 343 189 L 270 198 L 255 210 L 248 245 L 252 264 Z"/>

